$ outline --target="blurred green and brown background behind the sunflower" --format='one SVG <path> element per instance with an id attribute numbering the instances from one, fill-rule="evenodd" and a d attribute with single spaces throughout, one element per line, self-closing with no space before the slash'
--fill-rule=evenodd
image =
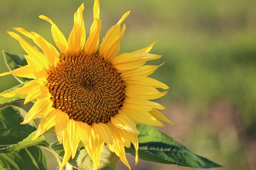
<path id="1" fill-rule="evenodd" d="M 50 24 L 39 15 L 51 18 L 68 37 L 74 12 L 82 2 L 88 37 L 92 0 L 0 0 L 0 48 L 25 53 L 6 33 L 12 27 L 35 31 L 54 44 Z M 196 154 L 224 166 L 218 170 L 255 169 L 256 1 L 102 0 L 100 40 L 128 10 L 131 13 L 124 21 L 121 53 L 160 40 L 151 53 L 163 57 L 149 63 L 165 64 L 151 77 L 170 87 L 168 94 L 156 101 L 166 107 L 162 113 L 176 127 L 159 129 Z M 1 54 L 0 72 L 6 71 Z M 0 77 L 0 92 L 17 84 L 11 75 Z M 26 110 L 31 106 L 27 104 Z M 49 142 L 56 140 L 53 133 L 46 137 Z M 46 154 L 48 169 L 56 169 L 55 158 L 48 151 Z M 134 170 L 190 169 L 143 160 L 134 166 L 134 157 L 127 157 Z M 118 163 L 117 169 L 128 168 Z"/>

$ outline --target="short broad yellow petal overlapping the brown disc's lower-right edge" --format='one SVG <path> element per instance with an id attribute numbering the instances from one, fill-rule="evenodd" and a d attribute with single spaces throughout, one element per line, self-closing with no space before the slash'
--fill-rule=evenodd
<path id="1" fill-rule="evenodd" d="M 117 114 L 111 117 L 113 125 L 119 129 L 138 133 L 135 122 L 126 115 Z"/>

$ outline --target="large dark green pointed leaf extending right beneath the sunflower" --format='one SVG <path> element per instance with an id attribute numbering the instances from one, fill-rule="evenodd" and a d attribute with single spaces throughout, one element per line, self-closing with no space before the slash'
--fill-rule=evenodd
<path id="1" fill-rule="evenodd" d="M 174 141 L 158 129 L 148 125 L 137 125 L 139 158 L 162 164 L 175 164 L 193 168 L 214 168 L 220 165 L 198 156 Z M 135 156 L 134 147 L 126 148 L 126 152 Z"/>

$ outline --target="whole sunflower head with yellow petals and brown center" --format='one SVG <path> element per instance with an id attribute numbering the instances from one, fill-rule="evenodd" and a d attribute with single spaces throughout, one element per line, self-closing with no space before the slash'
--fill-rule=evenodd
<path id="1" fill-rule="evenodd" d="M 162 64 L 144 65 L 146 61 L 159 59 L 162 55 L 150 54 L 156 42 L 118 55 L 126 28 L 123 24 L 121 29 L 121 24 L 130 11 L 108 30 L 99 48 L 101 21 L 98 0 L 94 1 L 94 21 L 86 41 L 83 10 L 84 4 L 74 14 L 74 27 L 68 41 L 50 18 L 39 16 L 52 25 L 52 37 L 60 53 L 35 32 L 14 28 L 32 39 L 42 49 L 41 52 L 18 34 L 8 32 L 28 54 L 24 55 L 28 64 L 0 76 L 13 74 L 34 80 L 2 96 L 24 94 L 24 104 L 34 102 L 21 123 L 41 117 L 32 140 L 55 128 L 65 151 L 60 169 L 70 156 L 75 157 L 80 141 L 92 158 L 94 169 L 99 167 L 104 144 L 130 169 L 124 149 L 131 143 L 134 145 L 137 164 L 139 132 L 136 123 L 164 126 L 158 119 L 171 123 L 158 111 L 164 107 L 150 101 L 167 93 L 156 88 L 168 89 L 168 86 L 147 77 Z"/>

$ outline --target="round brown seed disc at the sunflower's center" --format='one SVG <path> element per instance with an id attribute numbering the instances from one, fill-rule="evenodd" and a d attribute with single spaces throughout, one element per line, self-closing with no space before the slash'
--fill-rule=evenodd
<path id="1" fill-rule="evenodd" d="M 124 100 L 124 83 L 98 55 L 69 55 L 48 70 L 52 107 L 88 125 L 108 122 Z"/>

